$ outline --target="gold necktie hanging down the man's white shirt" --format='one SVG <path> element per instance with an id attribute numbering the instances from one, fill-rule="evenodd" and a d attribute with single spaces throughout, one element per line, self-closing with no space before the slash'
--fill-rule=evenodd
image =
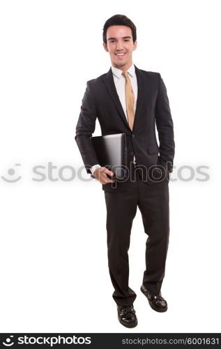
<path id="1" fill-rule="evenodd" d="M 134 126 L 134 121 L 135 121 L 135 112 L 134 112 L 135 94 L 132 91 L 132 86 L 131 86 L 130 78 L 128 76 L 128 72 L 123 71 L 122 74 L 125 77 L 125 101 L 126 101 L 127 114 L 128 114 L 128 124 L 132 131 L 132 128 Z"/>

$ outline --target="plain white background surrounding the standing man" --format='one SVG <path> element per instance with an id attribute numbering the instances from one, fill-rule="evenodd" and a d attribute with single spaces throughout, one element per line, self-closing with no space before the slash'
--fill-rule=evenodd
<path id="1" fill-rule="evenodd" d="M 220 332 L 219 5 L 1 1 L 1 332 Z M 129 251 L 134 329 L 118 322 L 112 299 L 101 184 L 85 170 L 89 181 L 62 180 L 71 179 L 62 166 L 82 166 L 75 126 L 86 81 L 111 65 L 102 27 L 117 13 L 137 26 L 135 65 L 165 81 L 176 142 L 162 284 L 169 309 L 156 313 L 139 290 L 147 236 L 137 210 Z M 44 181 L 33 180 L 36 165 L 45 167 Z M 178 178 L 183 165 L 194 169 L 191 181 Z M 197 181 L 199 165 L 208 166 L 208 181 Z"/>

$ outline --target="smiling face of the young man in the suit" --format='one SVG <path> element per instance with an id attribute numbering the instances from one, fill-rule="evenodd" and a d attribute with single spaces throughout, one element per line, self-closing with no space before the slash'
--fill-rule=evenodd
<path id="1" fill-rule="evenodd" d="M 109 52 L 112 66 L 121 70 L 128 70 L 132 65 L 132 52 L 137 48 L 137 40 L 132 41 L 130 27 L 112 25 L 107 29 L 107 44 L 104 48 Z"/>

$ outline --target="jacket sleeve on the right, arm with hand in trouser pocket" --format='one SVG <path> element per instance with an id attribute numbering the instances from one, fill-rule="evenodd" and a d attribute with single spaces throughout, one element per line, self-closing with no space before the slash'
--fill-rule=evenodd
<path id="1" fill-rule="evenodd" d="M 167 97 L 167 89 L 159 73 L 159 91 L 155 106 L 155 122 L 158 129 L 158 138 L 160 142 L 159 152 L 162 163 L 167 164 L 167 169 L 172 172 L 175 143 L 174 143 L 174 124 Z"/>

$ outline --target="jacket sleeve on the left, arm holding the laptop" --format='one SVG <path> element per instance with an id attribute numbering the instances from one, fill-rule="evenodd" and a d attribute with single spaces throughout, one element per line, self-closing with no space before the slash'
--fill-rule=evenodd
<path id="1" fill-rule="evenodd" d="M 82 155 L 86 172 L 91 173 L 90 168 L 99 163 L 91 141 L 92 133 L 96 127 L 96 107 L 91 94 L 91 84 L 86 83 L 86 91 L 82 99 L 81 112 L 76 126 L 75 140 Z"/>

